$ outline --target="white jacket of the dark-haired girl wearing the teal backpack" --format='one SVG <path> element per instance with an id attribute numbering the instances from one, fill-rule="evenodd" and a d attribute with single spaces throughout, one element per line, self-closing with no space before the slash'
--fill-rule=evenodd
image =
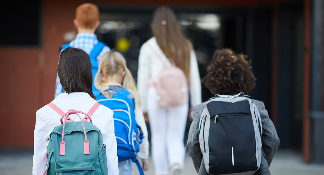
<path id="1" fill-rule="evenodd" d="M 61 93 L 53 101 L 63 112 L 74 109 L 87 113 L 97 103 L 88 93 Z M 82 118 L 84 115 L 79 114 Z M 80 121 L 77 115 L 69 115 L 73 121 Z M 113 112 L 106 106 L 100 105 L 91 116 L 92 123 L 102 133 L 103 144 L 106 145 L 109 175 L 119 175 L 117 142 L 115 137 Z M 36 112 L 34 131 L 33 175 L 43 175 L 47 163 L 47 145 L 54 127 L 61 125 L 61 115 L 45 105 Z M 65 141 L 66 144 L 67 141 Z M 109 149 L 108 149 L 109 148 Z"/>

